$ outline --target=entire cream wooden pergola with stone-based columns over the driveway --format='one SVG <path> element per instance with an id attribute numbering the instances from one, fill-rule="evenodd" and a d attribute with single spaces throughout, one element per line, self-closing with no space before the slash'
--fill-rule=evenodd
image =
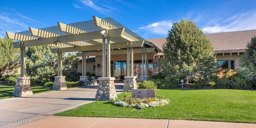
<path id="1" fill-rule="evenodd" d="M 150 67 L 148 66 L 148 58 L 152 58 L 153 54 L 158 53 L 160 49 L 112 18 L 100 19 L 93 16 L 92 19 L 72 24 L 58 22 L 58 26 L 42 29 L 29 28 L 25 32 L 6 32 L 9 39 L 18 40 L 18 42 L 13 43 L 14 47 L 21 49 L 21 73 L 17 79 L 17 83 L 19 83 L 17 86 L 24 86 L 23 84 L 26 83 L 27 85 L 25 86 L 28 88 L 26 90 L 16 90 L 18 95 L 32 95 L 31 88 L 29 88 L 30 78 L 26 77 L 25 62 L 26 47 L 30 46 L 48 45 L 52 47 L 52 53 L 57 53 L 58 76 L 55 77 L 54 81 L 55 90 L 66 89 L 65 76 L 62 75 L 62 53 L 65 52 L 76 51 L 78 52 L 77 56 L 82 57 L 81 77 L 85 79 L 88 68 L 86 67 L 87 56 L 95 56 L 96 58 L 95 71 L 96 75 L 100 76 L 98 80 L 104 81 L 103 83 L 107 81 L 112 86 L 114 86 L 114 83 L 112 83 L 114 80 L 113 75 L 134 77 L 138 73 L 137 66 L 134 68 L 134 59 L 141 60 L 141 65 L 145 65 L 138 65 L 140 71 L 138 75 L 148 75 Z M 98 86 L 105 85 L 99 83 Z M 114 90 L 114 87 L 112 89 Z M 116 94 L 110 93 L 110 95 L 104 97 L 104 94 L 105 92 L 99 89 L 96 94 L 96 100 L 107 100 L 111 96 L 114 96 L 114 98 L 116 96 Z"/>

